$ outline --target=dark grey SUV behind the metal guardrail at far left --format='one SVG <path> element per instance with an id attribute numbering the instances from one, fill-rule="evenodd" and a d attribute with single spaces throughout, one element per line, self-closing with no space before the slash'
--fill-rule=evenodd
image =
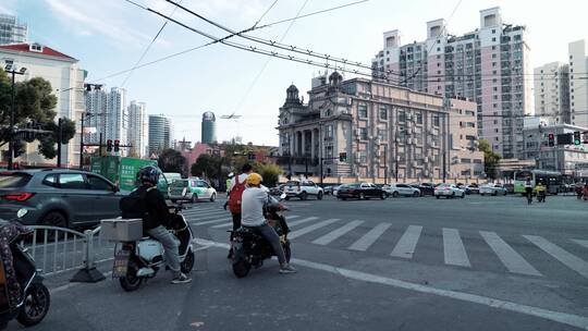
<path id="1" fill-rule="evenodd" d="M 0 172 L 0 219 L 21 208 L 27 225 L 77 228 L 121 216 L 121 192 L 103 176 L 81 170 L 38 169 Z"/>

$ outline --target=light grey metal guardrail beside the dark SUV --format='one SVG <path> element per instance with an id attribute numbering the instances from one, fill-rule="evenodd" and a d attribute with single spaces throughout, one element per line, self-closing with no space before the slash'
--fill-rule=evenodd
<path id="1" fill-rule="evenodd" d="M 100 226 L 83 233 L 48 225 L 28 228 L 34 231 L 33 238 L 21 242 L 21 245 L 33 256 L 37 268 L 40 268 L 45 275 L 77 269 L 72 282 L 97 282 L 105 279 L 96 269 L 96 261 L 100 253 L 111 256 L 112 252 L 102 252 L 109 243 L 102 241 Z"/>

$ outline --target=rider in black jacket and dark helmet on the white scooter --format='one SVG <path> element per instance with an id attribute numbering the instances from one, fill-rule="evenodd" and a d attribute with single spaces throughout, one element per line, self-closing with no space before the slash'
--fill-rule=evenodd
<path id="1" fill-rule="evenodd" d="M 145 197 L 147 216 L 143 219 L 143 230 L 163 245 L 166 262 L 173 273 L 172 284 L 189 283 L 192 279 L 180 270 L 180 241 L 164 226 L 171 216 L 166 198 L 157 189 L 159 170 L 152 166 L 143 167 L 137 179 L 140 186 L 132 194 Z"/>

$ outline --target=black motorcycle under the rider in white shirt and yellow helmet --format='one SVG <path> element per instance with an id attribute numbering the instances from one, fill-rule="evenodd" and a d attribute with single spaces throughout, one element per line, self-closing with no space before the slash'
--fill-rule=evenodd
<path id="1" fill-rule="evenodd" d="M 280 200 L 285 198 L 285 194 L 280 196 Z M 280 243 L 284 249 L 286 261 L 290 262 L 292 250 L 290 247 L 290 241 L 287 240 L 287 233 L 290 229 L 285 218 L 280 214 L 280 211 L 287 210 L 278 199 L 269 196 L 270 204 L 266 206 L 265 213 L 266 219 L 275 229 L 275 232 L 280 236 Z M 255 269 L 260 268 L 264 265 L 264 260 L 275 256 L 270 243 L 255 230 L 242 226 L 236 231 L 229 231 L 233 233 L 233 273 L 237 278 L 244 278 L 249 273 L 252 267 Z"/>

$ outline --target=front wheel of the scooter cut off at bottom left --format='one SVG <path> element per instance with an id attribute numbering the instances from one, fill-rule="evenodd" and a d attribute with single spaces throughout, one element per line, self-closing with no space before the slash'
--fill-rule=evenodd
<path id="1" fill-rule="evenodd" d="M 51 303 L 49 290 L 42 283 L 32 284 L 26 291 L 24 301 L 16 320 L 25 327 L 38 324 L 49 311 Z"/>

